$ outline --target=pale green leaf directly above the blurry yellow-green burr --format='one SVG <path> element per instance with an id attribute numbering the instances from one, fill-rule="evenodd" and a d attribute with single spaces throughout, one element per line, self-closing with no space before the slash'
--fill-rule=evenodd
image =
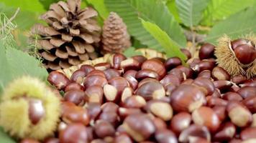
<path id="1" fill-rule="evenodd" d="M 40 61 L 29 54 L 19 51 L 17 49 L 6 49 L 6 58 L 10 69 L 12 69 L 12 78 L 21 75 L 29 75 L 32 77 L 39 77 L 40 79 L 47 78 L 47 71 L 40 67 Z"/>

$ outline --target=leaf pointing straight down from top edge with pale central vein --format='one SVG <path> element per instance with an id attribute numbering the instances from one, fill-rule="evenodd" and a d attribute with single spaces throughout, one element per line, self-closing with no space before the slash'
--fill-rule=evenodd
<path id="1" fill-rule="evenodd" d="M 202 19 L 209 0 L 175 0 L 181 21 L 192 28 Z"/>

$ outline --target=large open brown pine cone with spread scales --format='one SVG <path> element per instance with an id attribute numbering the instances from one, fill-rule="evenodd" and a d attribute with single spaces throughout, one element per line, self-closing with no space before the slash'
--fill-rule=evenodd
<path id="1" fill-rule="evenodd" d="M 81 0 L 51 4 L 50 10 L 41 16 L 49 26 L 37 24 L 32 28 L 33 34 L 41 36 L 38 51 L 48 69 L 65 69 L 98 57 L 96 46 L 101 36 L 98 13 L 91 7 L 80 6 Z"/>

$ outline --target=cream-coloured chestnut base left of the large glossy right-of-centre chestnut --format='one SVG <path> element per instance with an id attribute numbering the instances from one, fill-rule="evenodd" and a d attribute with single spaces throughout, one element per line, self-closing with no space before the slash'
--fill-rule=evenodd
<path id="1" fill-rule="evenodd" d="M 146 109 L 164 121 L 169 121 L 173 117 L 173 108 L 166 102 L 151 100 L 147 102 Z"/>

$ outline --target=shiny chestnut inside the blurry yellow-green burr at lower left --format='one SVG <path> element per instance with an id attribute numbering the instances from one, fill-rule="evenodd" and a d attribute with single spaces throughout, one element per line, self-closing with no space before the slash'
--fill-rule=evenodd
<path id="1" fill-rule="evenodd" d="M 45 108 L 40 99 L 29 99 L 29 119 L 32 124 L 37 124 L 45 116 Z"/>

